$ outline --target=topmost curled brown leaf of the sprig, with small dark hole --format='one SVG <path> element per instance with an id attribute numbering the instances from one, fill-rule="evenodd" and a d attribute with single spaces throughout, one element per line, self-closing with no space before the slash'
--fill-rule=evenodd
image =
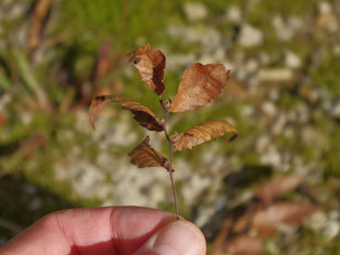
<path id="1" fill-rule="evenodd" d="M 166 64 L 165 55 L 156 48 L 151 48 L 145 44 L 143 48 L 128 54 L 130 62 L 133 62 L 139 70 L 142 81 L 147 85 L 156 95 L 162 95 L 165 90 L 164 68 Z"/>

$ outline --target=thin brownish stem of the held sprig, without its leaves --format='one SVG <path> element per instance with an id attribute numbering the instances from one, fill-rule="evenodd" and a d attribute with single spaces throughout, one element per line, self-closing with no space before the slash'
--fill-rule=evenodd
<path id="1" fill-rule="evenodd" d="M 163 99 L 160 97 L 160 103 L 164 110 L 164 123 L 163 123 L 163 131 L 166 136 L 166 140 L 169 144 L 169 166 L 166 168 L 169 175 L 171 184 L 172 184 L 172 189 L 173 189 L 173 197 L 174 197 L 174 204 L 175 204 L 175 211 L 176 211 L 176 218 L 177 220 L 179 219 L 178 214 L 178 206 L 177 206 L 177 195 L 176 195 L 176 189 L 175 189 L 175 181 L 173 177 L 173 173 L 175 171 L 173 168 L 173 154 L 174 154 L 174 143 L 169 138 L 167 130 L 166 130 L 166 124 L 167 124 L 167 117 L 168 117 L 168 110 L 169 108 L 164 104 Z"/>

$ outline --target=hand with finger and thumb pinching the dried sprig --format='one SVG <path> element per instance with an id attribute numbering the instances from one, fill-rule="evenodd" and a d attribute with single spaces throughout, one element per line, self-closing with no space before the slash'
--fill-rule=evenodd
<path id="1" fill-rule="evenodd" d="M 51 213 L 2 247 L 0 255 L 204 255 L 193 223 L 138 207 L 73 209 Z"/>

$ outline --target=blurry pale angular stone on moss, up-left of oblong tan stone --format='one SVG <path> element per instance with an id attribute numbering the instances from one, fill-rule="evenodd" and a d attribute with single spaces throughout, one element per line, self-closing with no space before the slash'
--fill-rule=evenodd
<path id="1" fill-rule="evenodd" d="M 239 37 L 239 44 L 241 46 L 253 47 L 259 46 L 262 43 L 263 43 L 263 33 L 261 30 L 250 24 L 242 25 Z"/>

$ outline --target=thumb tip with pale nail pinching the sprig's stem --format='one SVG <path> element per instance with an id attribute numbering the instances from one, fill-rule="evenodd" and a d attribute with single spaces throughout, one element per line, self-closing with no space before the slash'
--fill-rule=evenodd
<path id="1" fill-rule="evenodd" d="M 174 221 L 158 230 L 139 250 L 138 255 L 205 255 L 206 240 L 188 221 Z"/>

